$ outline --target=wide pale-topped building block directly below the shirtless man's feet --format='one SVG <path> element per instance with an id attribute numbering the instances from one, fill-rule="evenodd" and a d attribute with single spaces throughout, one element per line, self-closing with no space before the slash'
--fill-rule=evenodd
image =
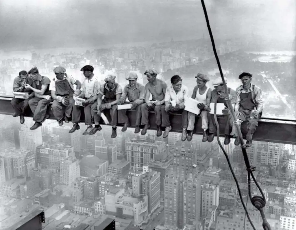
<path id="1" fill-rule="evenodd" d="M 168 156 L 168 145 L 163 141 L 133 138 L 126 142 L 126 158 L 131 169 L 142 168 L 152 160 L 163 161 Z"/>

